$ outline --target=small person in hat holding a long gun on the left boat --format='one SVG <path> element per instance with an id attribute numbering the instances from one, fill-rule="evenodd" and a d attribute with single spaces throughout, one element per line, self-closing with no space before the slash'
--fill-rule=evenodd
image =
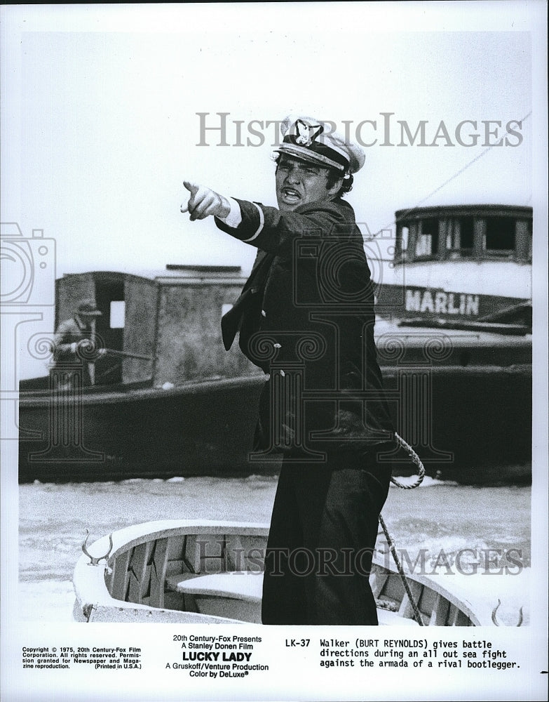
<path id="1" fill-rule="evenodd" d="M 93 385 L 93 363 L 107 352 L 95 343 L 95 319 L 101 315 L 93 300 L 81 300 L 74 317 L 57 326 L 50 369 L 55 388 L 74 388 L 77 376 L 82 387 Z"/>

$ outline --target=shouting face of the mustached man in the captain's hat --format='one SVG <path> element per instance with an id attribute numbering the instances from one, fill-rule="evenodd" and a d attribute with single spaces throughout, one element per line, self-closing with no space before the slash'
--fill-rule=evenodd
<path id="1" fill-rule="evenodd" d="M 332 199 L 341 186 L 327 187 L 328 169 L 280 154 L 276 168 L 276 199 L 283 211 L 309 202 Z"/>

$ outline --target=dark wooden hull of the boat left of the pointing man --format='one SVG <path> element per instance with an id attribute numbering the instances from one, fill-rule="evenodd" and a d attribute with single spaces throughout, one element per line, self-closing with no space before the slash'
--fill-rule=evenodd
<path id="1" fill-rule="evenodd" d="M 171 390 L 84 393 L 74 402 L 76 411 L 69 407 L 68 419 L 63 397 L 53 403 L 48 394 L 22 398 L 20 480 L 248 471 L 261 384 L 252 377 L 188 383 Z"/>

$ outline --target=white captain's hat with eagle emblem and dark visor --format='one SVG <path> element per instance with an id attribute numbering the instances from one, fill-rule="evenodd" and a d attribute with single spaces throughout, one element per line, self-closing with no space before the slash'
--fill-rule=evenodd
<path id="1" fill-rule="evenodd" d="M 283 142 L 275 151 L 342 172 L 360 171 L 366 158 L 364 151 L 332 128 L 330 122 L 289 114 L 280 124 Z"/>

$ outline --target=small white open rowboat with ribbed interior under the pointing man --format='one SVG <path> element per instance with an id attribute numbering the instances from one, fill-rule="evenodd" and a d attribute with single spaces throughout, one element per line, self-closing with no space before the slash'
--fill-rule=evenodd
<path id="1" fill-rule="evenodd" d="M 74 618 L 81 622 L 261 623 L 269 527 L 164 520 L 114 531 L 74 569 Z M 489 611 L 423 574 L 407 576 L 423 625 L 492 625 Z M 400 575 L 374 556 L 370 583 L 380 625 L 419 625 Z"/>

